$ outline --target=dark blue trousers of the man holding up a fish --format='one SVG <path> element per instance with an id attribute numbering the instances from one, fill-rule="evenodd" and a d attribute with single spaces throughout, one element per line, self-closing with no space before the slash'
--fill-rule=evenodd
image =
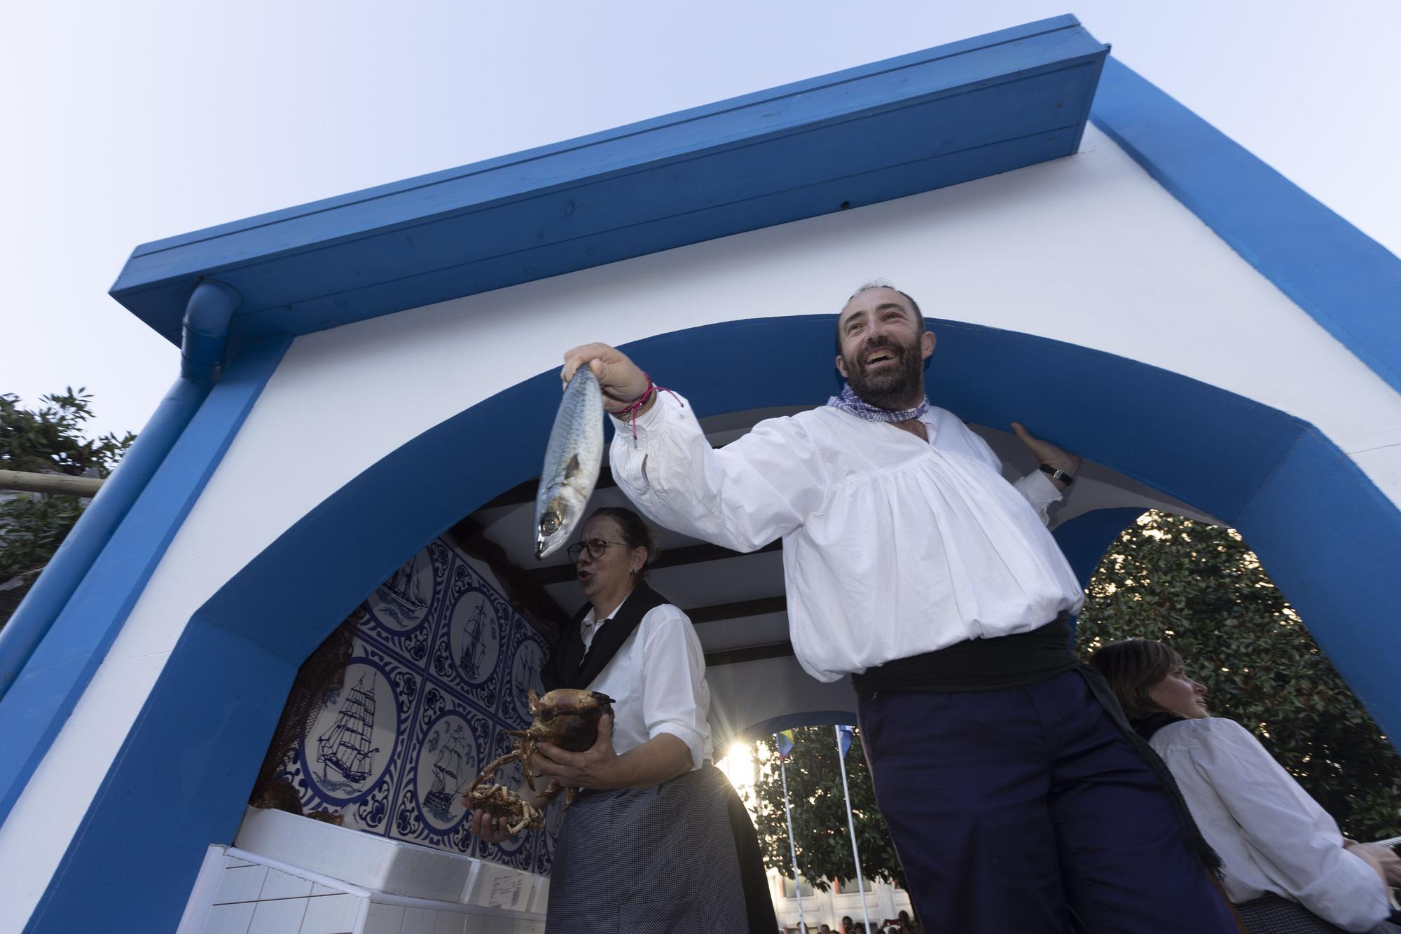
<path id="1" fill-rule="evenodd" d="M 1157 776 L 1077 672 L 863 696 L 859 710 L 876 798 L 930 934 L 1238 931 Z"/>

